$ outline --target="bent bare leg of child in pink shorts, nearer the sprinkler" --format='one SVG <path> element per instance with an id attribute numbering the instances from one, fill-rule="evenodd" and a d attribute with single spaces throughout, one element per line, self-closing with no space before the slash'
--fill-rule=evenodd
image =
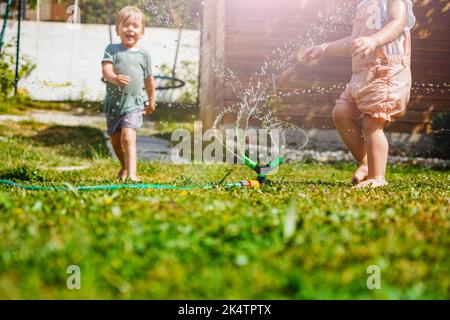
<path id="1" fill-rule="evenodd" d="M 336 105 L 333 109 L 333 120 L 336 129 L 339 132 L 342 140 L 350 149 L 350 152 L 358 161 L 358 168 L 356 169 L 352 183 L 358 184 L 367 179 L 369 169 L 367 165 L 367 151 L 364 142 L 362 130 L 357 121 L 352 118 L 353 115 L 343 105 Z"/>

